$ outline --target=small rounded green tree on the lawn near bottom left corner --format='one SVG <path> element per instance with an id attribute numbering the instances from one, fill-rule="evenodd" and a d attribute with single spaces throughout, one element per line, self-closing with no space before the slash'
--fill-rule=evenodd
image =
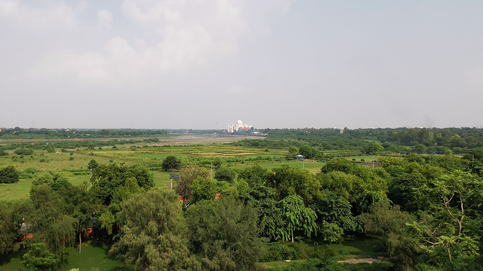
<path id="1" fill-rule="evenodd" d="M 30 250 L 22 257 L 28 271 L 54 271 L 59 259 L 45 250 L 45 244 L 31 244 Z"/>

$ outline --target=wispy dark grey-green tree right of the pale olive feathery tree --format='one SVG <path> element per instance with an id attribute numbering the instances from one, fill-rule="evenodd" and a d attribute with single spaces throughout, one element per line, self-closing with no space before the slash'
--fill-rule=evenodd
<path id="1" fill-rule="evenodd" d="M 256 208 L 224 196 L 188 207 L 186 221 L 207 269 L 254 270 L 264 248 Z"/>

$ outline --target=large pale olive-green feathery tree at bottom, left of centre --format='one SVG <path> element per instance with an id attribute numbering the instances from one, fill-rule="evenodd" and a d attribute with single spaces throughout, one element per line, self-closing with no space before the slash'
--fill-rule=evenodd
<path id="1" fill-rule="evenodd" d="M 136 194 L 121 203 L 119 240 L 109 254 L 136 271 L 201 270 L 188 249 L 178 196 L 170 190 Z"/>

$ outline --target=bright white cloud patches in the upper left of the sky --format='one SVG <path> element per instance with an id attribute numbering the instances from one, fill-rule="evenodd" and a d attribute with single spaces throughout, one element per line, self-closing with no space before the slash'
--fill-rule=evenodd
<path id="1" fill-rule="evenodd" d="M 260 24 L 264 24 L 262 12 L 247 14 L 244 10 L 248 9 L 247 3 L 125 0 L 121 11 L 132 27 L 139 30 L 136 31 L 138 37 L 130 37 L 121 30 L 116 33 L 117 37 L 104 43 L 104 48 L 87 52 L 76 52 L 74 48 L 55 49 L 35 65 L 30 74 L 81 80 L 135 80 L 204 66 L 212 59 L 236 54 L 240 41 L 259 31 Z M 256 6 L 257 3 L 251 4 Z M 272 5 L 279 4 L 273 2 L 262 7 L 267 11 Z M 58 6 L 62 7 L 60 2 Z M 75 18 L 72 9 L 69 14 Z M 99 29 L 111 29 L 112 23 L 113 13 L 105 9 L 97 12 Z"/>

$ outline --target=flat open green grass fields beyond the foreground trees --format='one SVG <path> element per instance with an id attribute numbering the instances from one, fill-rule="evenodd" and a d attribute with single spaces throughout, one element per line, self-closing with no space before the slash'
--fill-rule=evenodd
<path id="1" fill-rule="evenodd" d="M 120 145 L 120 147 L 126 147 Z M 169 155 L 184 158 L 189 156 L 196 157 L 237 157 L 237 158 L 253 158 L 253 157 L 277 157 L 284 158 L 288 153 L 284 149 L 257 149 L 248 147 L 235 147 L 230 145 L 204 145 L 204 146 L 162 146 L 150 148 L 138 148 L 135 150 L 111 147 L 103 148 L 102 150 L 68 150 L 73 152 L 57 152 L 47 153 L 46 151 L 35 151 L 34 155 L 24 156 L 13 154 L 9 151 L 9 156 L 0 157 L 0 167 L 6 164 L 14 164 L 19 172 L 27 168 L 33 168 L 37 172 L 45 170 L 63 171 L 69 176 L 72 184 L 80 185 L 84 181 L 89 182 L 90 175 L 73 175 L 71 171 L 82 171 L 87 169 L 88 163 L 91 159 L 95 159 L 98 163 L 126 163 L 133 165 L 143 163 L 148 166 L 159 166 L 161 160 Z M 94 156 L 91 155 L 94 153 Z M 72 160 L 71 160 L 72 159 Z M 298 165 L 308 169 L 312 173 L 317 173 L 324 165 L 321 162 L 315 161 L 260 161 L 253 163 L 223 163 L 222 167 L 230 164 L 230 168 L 242 170 L 248 167 L 259 164 L 263 168 L 272 169 L 279 167 L 282 164 L 289 164 L 291 166 Z M 156 187 L 170 187 L 169 172 L 153 171 L 154 182 Z M 0 184 L 0 200 L 28 198 L 31 178 L 20 179 L 14 184 Z"/>

